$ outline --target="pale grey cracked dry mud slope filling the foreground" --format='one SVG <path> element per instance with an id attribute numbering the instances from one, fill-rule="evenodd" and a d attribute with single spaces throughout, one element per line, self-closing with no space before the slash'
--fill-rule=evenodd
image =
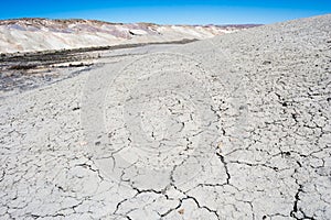
<path id="1" fill-rule="evenodd" d="M 330 31 L 266 25 L 4 96 L 0 219 L 331 219 Z"/>

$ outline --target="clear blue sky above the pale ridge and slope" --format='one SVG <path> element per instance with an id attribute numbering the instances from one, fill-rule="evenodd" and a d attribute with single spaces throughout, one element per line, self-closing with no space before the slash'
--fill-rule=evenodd
<path id="1" fill-rule="evenodd" d="M 330 0 L 2 0 L 0 19 L 96 19 L 161 24 L 274 23 L 331 13 Z"/>

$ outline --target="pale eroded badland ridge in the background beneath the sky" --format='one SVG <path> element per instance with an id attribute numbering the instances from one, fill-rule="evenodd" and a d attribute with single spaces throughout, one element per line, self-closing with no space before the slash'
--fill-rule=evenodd
<path id="1" fill-rule="evenodd" d="M 0 53 L 202 40 L 256 26 L 158 25 L 96 20 L 13 19 L 0 21 Z"/>

